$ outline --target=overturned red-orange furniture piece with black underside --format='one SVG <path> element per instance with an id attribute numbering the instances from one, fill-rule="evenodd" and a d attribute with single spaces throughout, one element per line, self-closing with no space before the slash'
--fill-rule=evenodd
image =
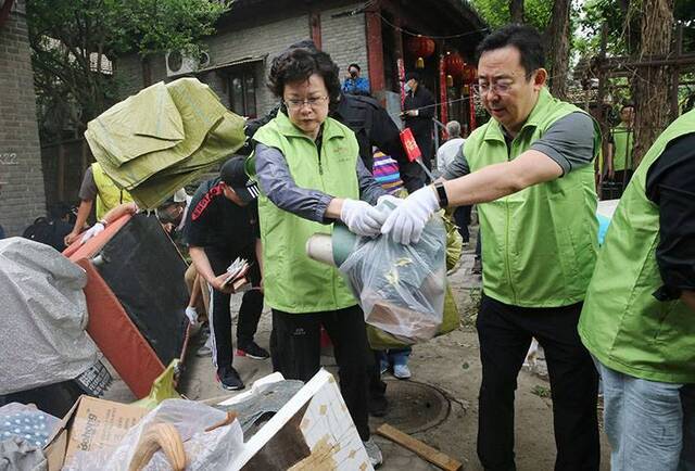
<path id="1" fill-rule="evenodd" d="M 174 358 L 189 322 L 187 268 L 154 215 L 125 215 L 84 245 L 65 251 L 85 268 L 87 330 L 138 397 Z"/>

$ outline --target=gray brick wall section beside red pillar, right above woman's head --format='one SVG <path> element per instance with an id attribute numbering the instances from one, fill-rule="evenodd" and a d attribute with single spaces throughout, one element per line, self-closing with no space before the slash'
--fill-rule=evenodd
<path id="1" fill-rule="evenodd" d="M 348 74 L 348 66 L 353 62 L 359 64 L 361 76 L 369 78 L 364 13 L 332 17 L 336 14 L 352 11 L 362 4 L 355 3 L 321 12 L 321 47 L 340 67 L 341 82 Z"/>

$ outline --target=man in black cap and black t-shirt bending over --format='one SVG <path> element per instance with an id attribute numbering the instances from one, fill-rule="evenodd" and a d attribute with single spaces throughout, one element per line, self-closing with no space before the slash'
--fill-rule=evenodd
<path id="1" fill-rule="evenodd" d="M 244 158 L 233 157 L 220 169 L 219 177 L 200 184 L 186 216 L 184 237 L 195 269 L 212 289 L 210 329 L 213 339 L 213 365 L 217 380 L 229 391 L 242 390 L 243 381 L 232 367 L 231 284 L 225 285 L 227 267 L 237 258 L 250 264 L 247 278 L 252 289 L 243 295 L 237 328 L 237 355 L 254 359 L 269 357 L 255 335 L 263 310 L 258 231 L 258 188 L 244 171 Z"/>

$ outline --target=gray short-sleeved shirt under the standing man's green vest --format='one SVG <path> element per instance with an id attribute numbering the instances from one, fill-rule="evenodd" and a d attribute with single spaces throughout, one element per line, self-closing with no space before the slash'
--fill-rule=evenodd
<path id="1" fill-rule="evenodd" d="M 563 175 L 567 175 L 594 160 L 594 122 L 585 113 L 570 113 L 555 122 L 530 149 L 551 157 L 560 166 Z M 462 148 L 442 177 L 452 180 L 468 174 L 470 166 Z"/>

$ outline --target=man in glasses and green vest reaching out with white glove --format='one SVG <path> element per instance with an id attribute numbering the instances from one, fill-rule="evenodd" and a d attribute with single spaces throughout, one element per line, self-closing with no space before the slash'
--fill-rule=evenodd
<path id="1" fill-rule="evenodd" d="M 548 92 L 542 44 L 523 25 L 481 41 L 477 92 L 492 119 L 466 139 L 444 181 L 410 194 L 382 227 L 407 244 L 440 207 L 479 205 L 478 456 L 486 470 L 515 469 L 514 395 L 532 338 L 548 366 L 555 469 L 596 470 L 601 458 L 598 379 L 577 333 L 598 245 L 599 133 L 589 114 Z"/>

